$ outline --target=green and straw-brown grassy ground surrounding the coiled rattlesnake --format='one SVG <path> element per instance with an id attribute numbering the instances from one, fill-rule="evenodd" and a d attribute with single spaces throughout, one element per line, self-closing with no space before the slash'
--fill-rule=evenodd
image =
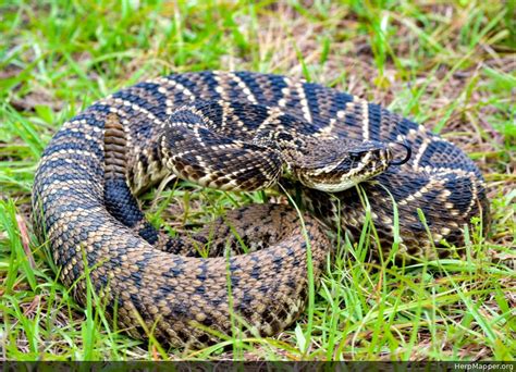
<path id="1" fill-rule="evenodd" d="M 0 2 L 0 359 L 512 360 L 514 2 Z M 513 28 L 512 28 L 513 27 Z M 32 234 L 29 193 L 61 123 L 147 77 L 194 70 L 304 76 L 425 122 L 482 169 L 493 224 L 464 261 L 393 268 L 342 244 L 315 305 L 277 338 L 163 350 L 78 307 Z M 172 226 L 255 195 L 183 189 L 149 207 Z M 91 303 L 93 305 L 93 303 Z"/>

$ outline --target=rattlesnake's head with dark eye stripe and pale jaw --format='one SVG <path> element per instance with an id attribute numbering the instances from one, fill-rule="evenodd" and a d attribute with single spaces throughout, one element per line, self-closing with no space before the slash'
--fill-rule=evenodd
<path id="1" fill-rule="evenodd" d="M 307 138 L 295 156 L 290 152 L 286 162 L 292 176 L 307 187 L 328 193 L 351 188 L 393 163 L 392 147 L 372 140 Z"/>

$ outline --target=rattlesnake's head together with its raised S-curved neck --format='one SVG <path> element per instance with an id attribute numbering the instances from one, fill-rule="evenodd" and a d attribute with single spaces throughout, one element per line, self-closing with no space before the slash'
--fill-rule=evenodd
<path id="1" fill-rule="evenodd" d="M 225 190 L 269 188 L 286 173 L 306 187 L 337 193 L 380 174 L 392 160 L 382 142 L 317 133 L 310 122 L 254 103 L 183 106 L 158 132 L 144 151 L 147 164 L 138 164 L 153 166 L 150 177 L 167 169 Z"/>

